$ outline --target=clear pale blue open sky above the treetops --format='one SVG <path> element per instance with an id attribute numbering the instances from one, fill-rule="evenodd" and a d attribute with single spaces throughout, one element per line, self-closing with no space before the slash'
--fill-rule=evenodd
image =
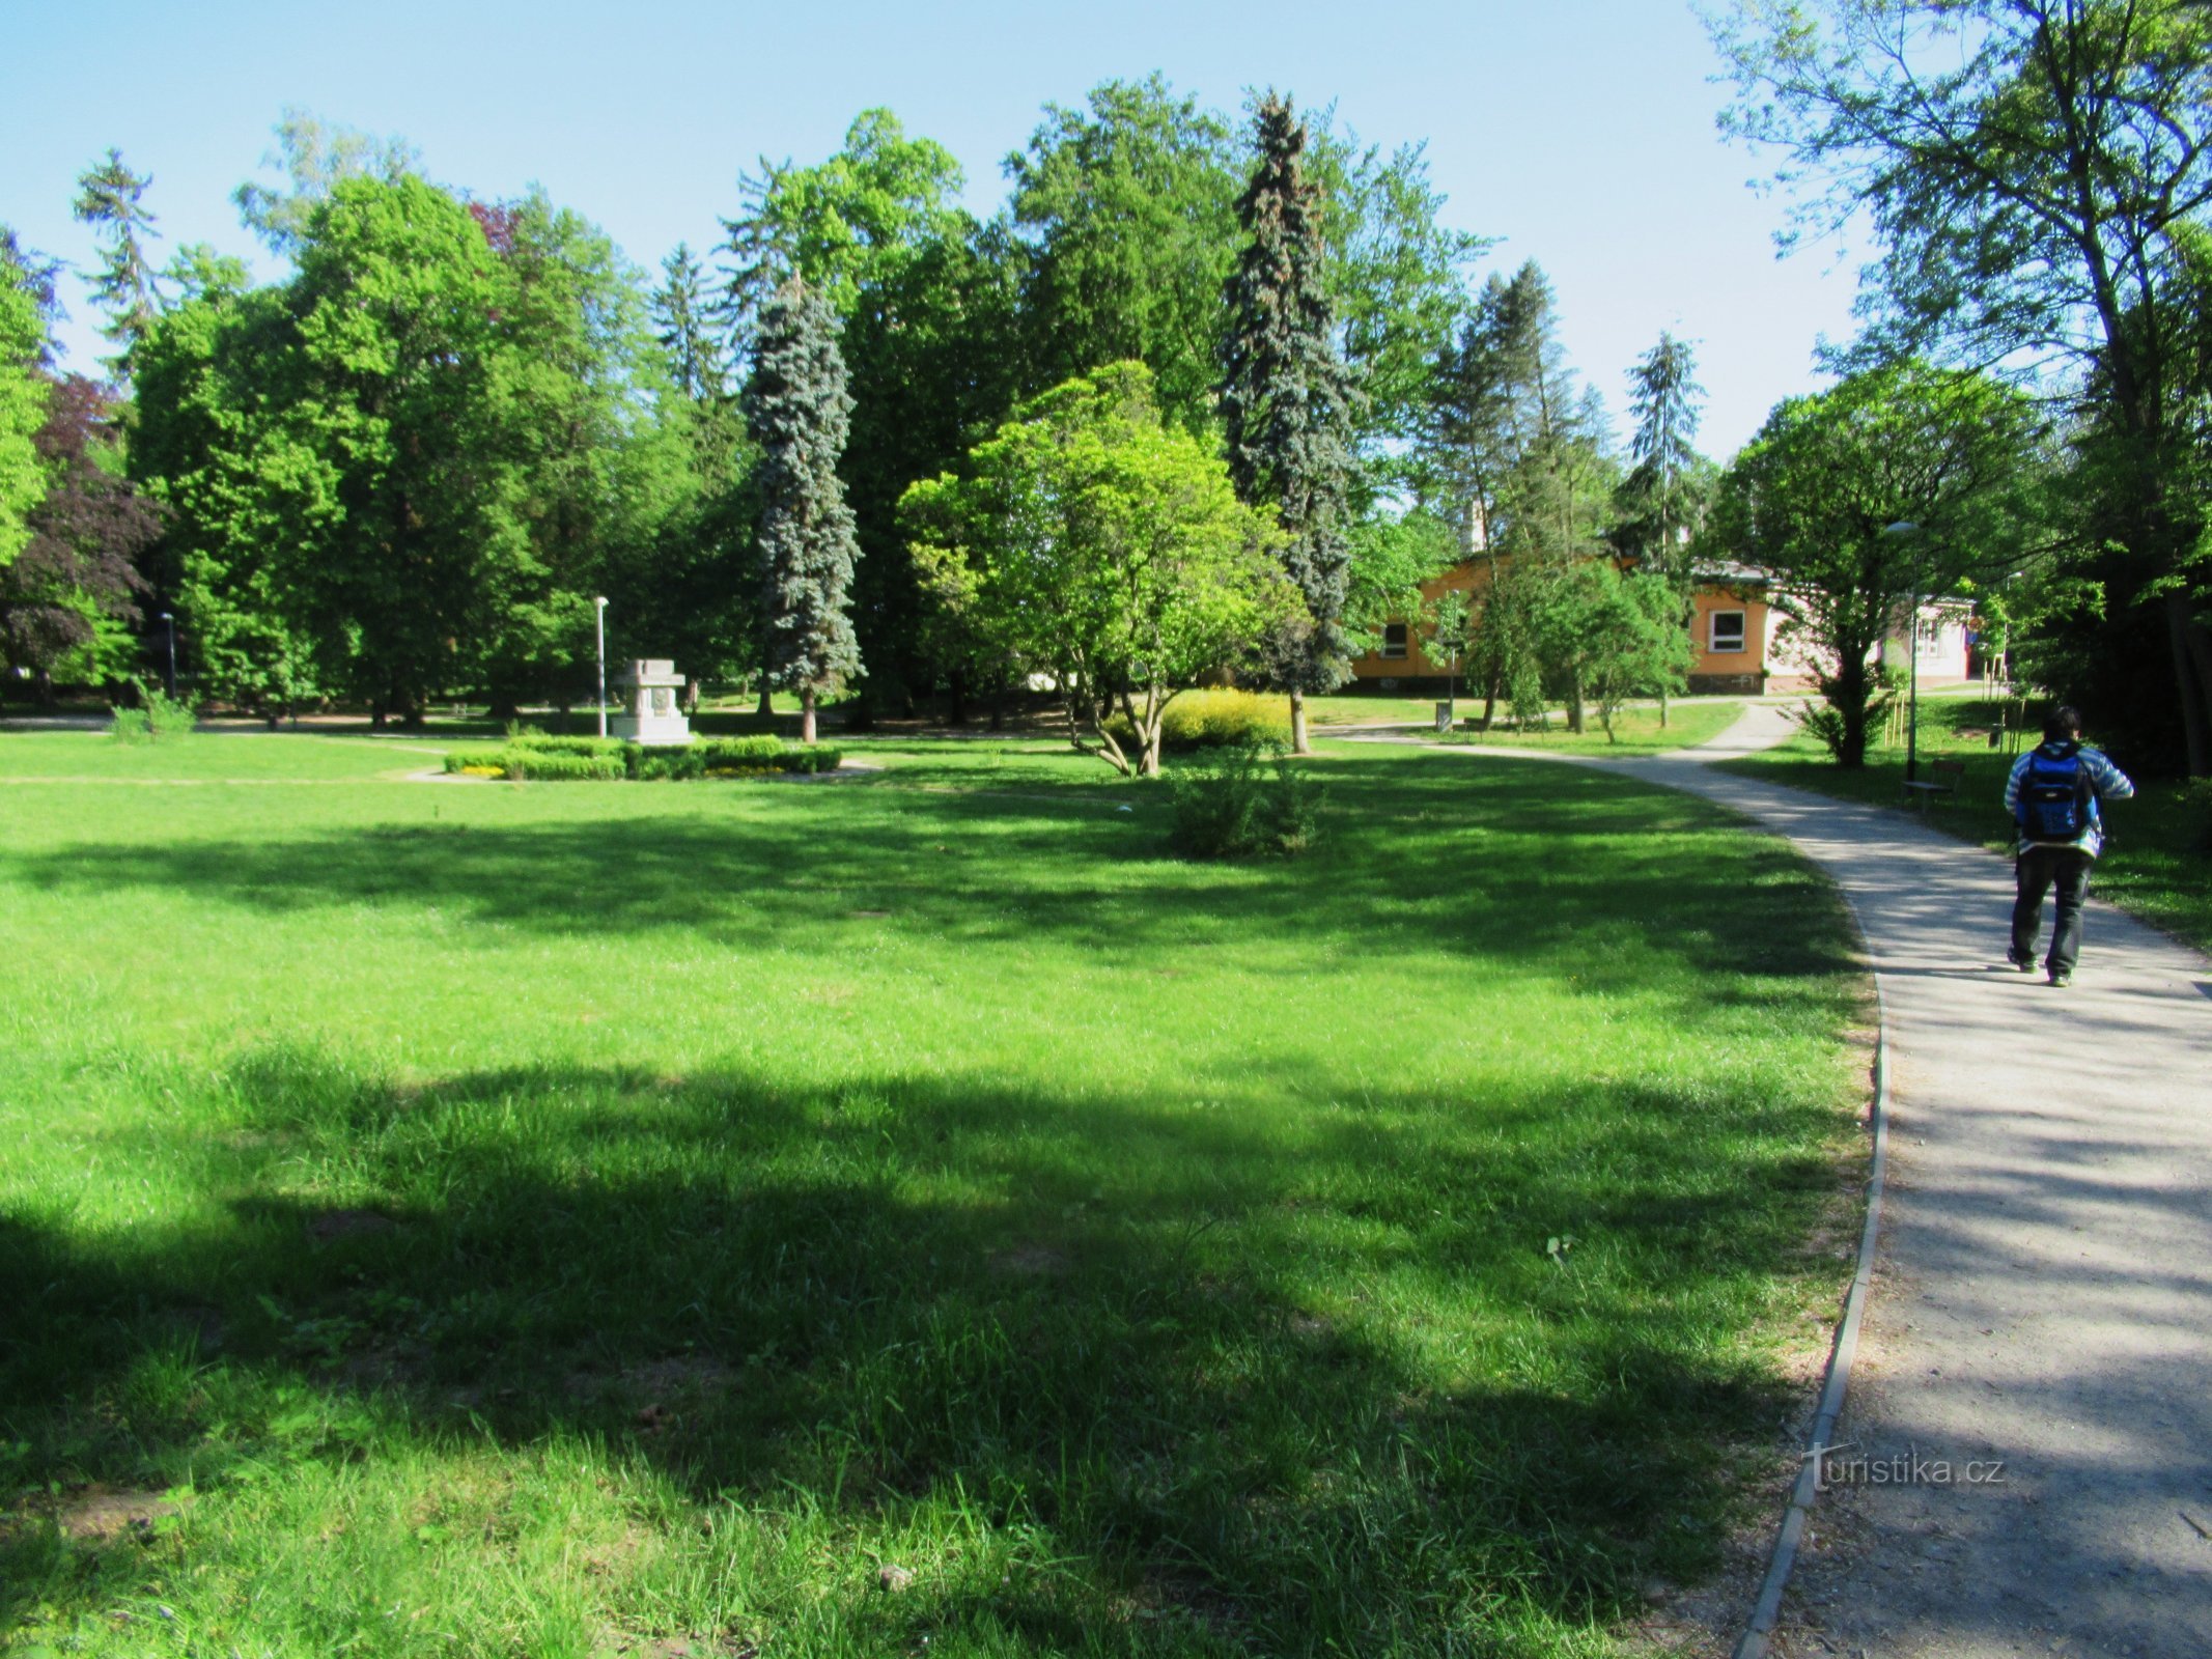
<path id="1" fill-rule="evenodd" d="M 951 148 L 989 212 L 1042 104 L 1155 69 L 1217 108 L 1276 86 L 1336 102 L 1363 139 L 1427 139 L 1447 217 L 1500 239 L 1493 265 L 1544 265 L 1615 414 L 1659 330 L 1697 343 L 1721 458 L 1818 385 L 1823 334 L 1851 332 L 1845 261 L 1774 259 L 1781 206 L 1747 188 L 1761 159 L 1714 135 L 1725 88 L 1683 0 L 0 0 L 0 221 L 88 265 L 69 201 L 115 144 L 153 175 L 166 246 L 254 254 L 230 190 L 301 104 L 407 137 L 480 197 L 538 181 L 653 265 L 714 243 L 759 157 L 816 161 L 874 104 Z M 91 305 L 64 294 L 64 345 L 91 369 Z"/>

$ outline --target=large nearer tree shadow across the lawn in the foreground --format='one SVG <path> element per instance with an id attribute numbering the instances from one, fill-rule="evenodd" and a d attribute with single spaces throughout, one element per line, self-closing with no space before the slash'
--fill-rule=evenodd
<path id="1" fill-rule="evenodd" d="M 232 1128 L 186 1152 L 195 1225 L 0 1221 L 11 1484 L 573 1436 L 699 1504 L 810 1493 L 843 1548 L 956 1502 L 1062 1564 L 856 1613 L 909 1644 L 1159 1650 L 1141 1606 L 1219 1652 L 1615 1621 L 1710 1568 L 1721 1471 L 1790 1411 L 1730 1332 L 1834 1181 L 1809 1108 L 1750 1082 L 1398 1095 L 1298 1135 L 987 1075 L 407 1091 L 265 1051 L 204 1088 Z M 0 1635 L 55 1559 L 0 1533 Z"/>

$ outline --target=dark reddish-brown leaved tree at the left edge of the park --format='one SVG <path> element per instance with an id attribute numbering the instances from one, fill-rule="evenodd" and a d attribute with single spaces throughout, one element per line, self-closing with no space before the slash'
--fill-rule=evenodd
<path id="1" fill-rule="evenodd" d="M 139 555 L 161 520 L 115 462 L 113 403 L 84 376 L 53 387 L 38 451 L 46 493 L 31 509 L 31 540 L 0 568 L 0 661 L 33 679 L 100 686 L 131 672 L 146 588 Z"/>

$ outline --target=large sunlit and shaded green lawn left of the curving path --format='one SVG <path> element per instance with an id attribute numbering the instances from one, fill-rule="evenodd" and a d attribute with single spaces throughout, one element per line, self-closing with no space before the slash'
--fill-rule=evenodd
<path id="1" fill-rule="evenodd" d="M 1781 843 L 398 754 L 0 737 L 0 1646 L 1608 1655 L 1770 1524 L 1865 1079 Z"/>

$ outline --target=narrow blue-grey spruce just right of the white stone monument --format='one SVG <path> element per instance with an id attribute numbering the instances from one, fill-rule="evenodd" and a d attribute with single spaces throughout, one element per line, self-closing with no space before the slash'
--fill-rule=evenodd
<path id="1" fill-rule="evenodd" d="M 745 422 L 761 447 L 761 566 L 768 679 L 801 697 L 814 741 L 816 697 L 860 672 L 852 633 L 858 553 L 836 473 L 852 425 L 836 312 L 796 276 L 761 307 Z"/>

